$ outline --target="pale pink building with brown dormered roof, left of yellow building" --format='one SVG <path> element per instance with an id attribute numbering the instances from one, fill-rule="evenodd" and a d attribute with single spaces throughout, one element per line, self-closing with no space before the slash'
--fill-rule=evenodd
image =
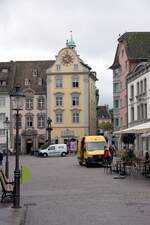
<path id="1" fill-rule="evenodd" d="M 22 154 L 34 153 L 47 140 L 46 70 L 53 61 L 15 62 L 14 87 L 19 85 L 25 95 L 23 110 L 19 111 L 19 146 Z M 15 149 L 16 120 L 11 106 L 12 135 Z"/>

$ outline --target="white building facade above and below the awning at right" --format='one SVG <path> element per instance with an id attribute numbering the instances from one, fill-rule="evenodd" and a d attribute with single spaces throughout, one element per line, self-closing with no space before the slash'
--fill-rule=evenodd
<path id="1" fill-rule="evenodd" d="M 150 63 L 139 63 L 127 77 L 128 126 L 145 125 L 150 121 Z M 150 133 L 136 134 L 137 154 L 150 153 Z"/>

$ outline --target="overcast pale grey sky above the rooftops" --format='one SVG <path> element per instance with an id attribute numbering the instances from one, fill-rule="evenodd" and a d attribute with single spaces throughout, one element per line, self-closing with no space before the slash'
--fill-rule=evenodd
<path id="1" fill-rule="evenodd" d="M 112 107 L 119 34 L 150 31 L 149 0 L 0 0 L 0 61 L 50 60 L 73 31 L 76 50 L 97 72 L 100 104 Z"/>

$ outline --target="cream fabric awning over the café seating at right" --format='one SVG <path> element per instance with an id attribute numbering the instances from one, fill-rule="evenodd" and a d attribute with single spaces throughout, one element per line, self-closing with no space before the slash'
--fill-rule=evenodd
<path id="1" fill-rule="evenodd" d="M 124 130 L 119 130 L 119 131 L 114 132 L 114 134 L 116 134 L 116 135 L 117 134 L 130 134 L 130 133 L 143 134 L 145 132 L 150 132 L 150 122 L 142 123 L 142 124 L 139 124 L 134 127 L 129 127 Z"/>

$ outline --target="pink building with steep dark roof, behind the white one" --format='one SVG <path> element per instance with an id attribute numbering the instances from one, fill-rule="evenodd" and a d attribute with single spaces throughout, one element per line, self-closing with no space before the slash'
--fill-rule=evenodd
<path id="1" fill-rule="evenodd" d="M 113 70 L 114 131 L 128 127 L 127 76 L 149 59 L 150 32 L 127 32 L 118 39 Z"/>

